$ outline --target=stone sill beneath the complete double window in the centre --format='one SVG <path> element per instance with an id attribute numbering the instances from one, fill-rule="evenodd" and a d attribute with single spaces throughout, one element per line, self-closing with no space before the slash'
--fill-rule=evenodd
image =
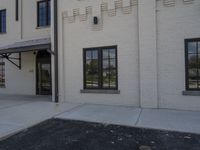
<path id="1" fill-rule="evenodd" d="M 80 93 L 91 93 L 91 94 L 120 94 L 119 90 L 80 90 Z"/>

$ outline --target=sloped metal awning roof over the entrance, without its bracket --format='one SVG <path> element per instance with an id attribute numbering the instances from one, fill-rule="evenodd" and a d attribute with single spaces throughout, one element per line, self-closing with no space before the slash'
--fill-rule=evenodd
<path id="1" fill-rule="evenodd" d="M 35 39 L 28 41 L 16 42 L 4 47 L 0 47 L 0 54 L 8 53 L 19 53 L 19 52 L 28 52 L 28 51 L 37 51 L 37 50 L 50 50 L 51 48 L 51 39 Z"/>

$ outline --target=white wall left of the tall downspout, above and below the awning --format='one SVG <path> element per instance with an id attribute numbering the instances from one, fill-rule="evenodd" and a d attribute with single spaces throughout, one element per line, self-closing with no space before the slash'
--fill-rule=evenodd
<path id="1" fill-rule="evenodd" d="M 37 1 L 26 0 L 1 0 L 0 12 L 4 11 L 4 19 L 1 16 L 0 24 L 4 24 L 0 31 L 1 47 L 15 42 L 29 41 L 51 37 L 49 25 L 39 25 Z M 1 13 L 0 13 L 1 14 Z M 23 44 L 22 44 L 23 46 Z M 23 52 L 21 62 L 12 58 L 19 58 L 19 53 L 12 53 L 10 61 L 17 66 L 21 63 L 21 68 L 13 65 L 9 60 L 3 58 L 5 63 L 4 83 L 0 88 L 0 93 L 4 94 L 36 94 L 36 58 L 35 51 Z M 2 55 L 1 55 L 2 56 Z"/>

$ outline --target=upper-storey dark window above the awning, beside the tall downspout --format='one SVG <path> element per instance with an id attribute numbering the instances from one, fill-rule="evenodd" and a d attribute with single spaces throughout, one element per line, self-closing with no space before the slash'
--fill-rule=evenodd
<path id="1" fill-rule="evenodd" d="M 43 0 L 38 2 L 38 27 L 50 26 L 51 24 L 51 1 Z"/>

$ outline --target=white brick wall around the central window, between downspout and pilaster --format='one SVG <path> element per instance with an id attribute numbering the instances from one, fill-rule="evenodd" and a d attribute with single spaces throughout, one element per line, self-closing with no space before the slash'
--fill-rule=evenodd
<path id="1" fill-rule="evenodd" d="M 139 106 L 137 6 L 131 6 L 131 10 L 128 7 L 126 10 L 116 9 L 112 0 L 108 3 L 109 10 L 101 11 L 101 4 L 102 1 L 59 1 L 59 14 L 63 16 L 62 21 L 59 20 L 59 41 L 63 40 L 63 47 L 59 44 L 59 53 L 63 53 L 59 66 L 63 63 L 64 99 L 70 102 Z M 92 12 L 87 19 L 80 20 L 80 15 L 76 16 L 77 9 L 73 8 L 79 8 L 82 14 L 87 6 L 91 6 Z M 73 15 L 74 18 L 70 17 Z M 93 16 L 99 17 L 99 25 L 93 25 Z M 83 48 L 111 45 L 118 46 L 120 94 L 81 94 Z"/>

